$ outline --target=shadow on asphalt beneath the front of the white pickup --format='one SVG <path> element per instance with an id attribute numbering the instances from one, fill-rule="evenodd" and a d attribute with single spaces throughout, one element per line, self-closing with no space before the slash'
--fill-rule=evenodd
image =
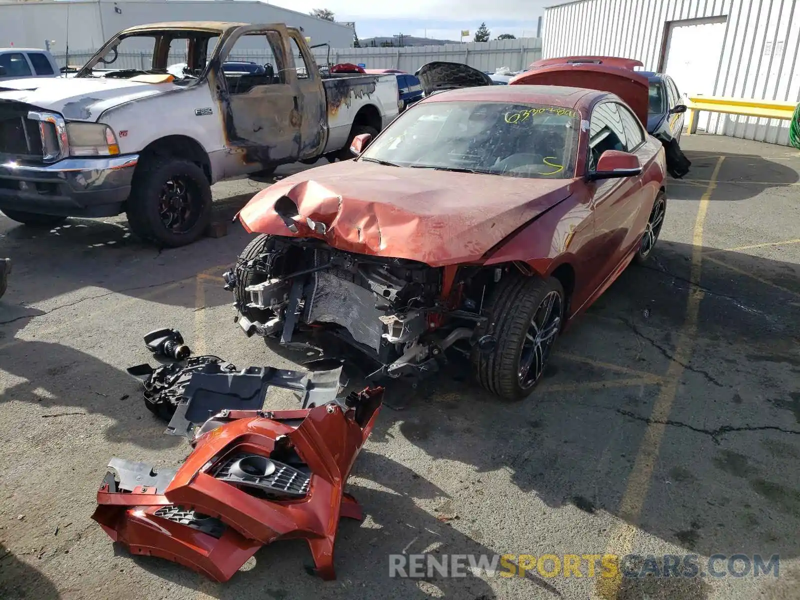
<path id="1" fill-rule="evenodd" d="M 232 216 L 249 198 L 224 198 L 215 203 L 215 210 Z M 8 226 L 11 222 L 0 214 L 0 222 L 4 221 L 2 254 L 14 260 L 6 302 L 27 305 L 96 287 L 100 290 L 67 296 L 62 304 L 108 290 L 170 306 L 194 307 L 194 278 L 211 271 L 218 277 L 224 266 L 235 262 L 250 238 L 239 222 L 229 218 L 223 237 L 201 238 L 189 246 L 168 249 L 140 242 L 119 218 L 70 218 L 52 230 Z M 214 281 L 214 285 L 222 287 L 222 282 Z M 206 306 L 229 301 L 228 294 L 213 294 Z M 3 316 L 0 310 L 0 323 Z"/>

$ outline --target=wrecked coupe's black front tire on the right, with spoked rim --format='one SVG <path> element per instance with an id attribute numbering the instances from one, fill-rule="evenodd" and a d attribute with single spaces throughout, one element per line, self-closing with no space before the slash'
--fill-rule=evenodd
<path id="1" fill-rule="evenodd" d="M 551 296 L 556 294 L 556 296 Z M 526 335 L 531 329 L 534 316 L 539 314 L 542 302 L 554 298 L 553 311 L 558 313 L 558 322 L 552 326 L 554 334 L 547 338 L 546 348 L 542 346 L 538 374 L 533 381 L 527 381 L 521 375 L 523 350 L 529 338 Z M 558 298 L 556 306 L 555 298 Z M 495 349 L 489 354 L 481 354 L 475 350 L 473 366 L 478 382 L 492 394 L 505 400 L 522 400 L 526 398 L 542 378 L 547 360 L 564 321 L 566 297 L 561 282 L 556 278 L 542 279 L 538 277 L 515 277 L 506 275 L 494 289 L 488 304 L 489 322 L 482 334 L 493 335 L 497 339 Z M 546 325 L 542 322 L 542 325 Z M 544 327 L 549 330 L 550 328 Z M 531 357 L 537 354 L 532 351 Z M 534 366 L 534 365 L 531 365 Z M 530 370 L 526 370 L 527 377 Z"/>

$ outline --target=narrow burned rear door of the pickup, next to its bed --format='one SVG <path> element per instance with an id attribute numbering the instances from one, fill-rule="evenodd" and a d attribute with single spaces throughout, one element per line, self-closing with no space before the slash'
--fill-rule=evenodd
<path id="1" fill-rule="evenodd" d="M 322 76 L 314 56 L 298 30 L 290 30 L 290 57 L 294 64 L 297 98 L 300 110 L 300 158 L 322 154 L 328 137 L 328 114 Z"/>

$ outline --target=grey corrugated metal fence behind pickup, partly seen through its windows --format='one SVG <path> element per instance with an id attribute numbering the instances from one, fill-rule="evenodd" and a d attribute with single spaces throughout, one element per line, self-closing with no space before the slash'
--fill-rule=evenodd
<path id="1" fill-rule="evenodd" d="M 94 50 L 70 50 L 70 64 L 82 65 L 94 54 Z M 317 62 L 328 60 L 327 48 L 315 48 Z M 64 54 L 54 54 L 59 66 L 66 64 Z M 272 62 L 272 57 L 258 50 L 240 50 L 234 60 Z M 522 70 L 531 62 L 542 58 L 540 38 L 520 38 L 496 40 L 494 42 L 470 42 L 466 44 L 446 44 L 446 46 L 411 46 L 408 48 L 332 48 L 330 62 L 353 62 L 365 64 L 367 69 L 400 69 L 414 73 L 420 66 L 430 61 L 466 62 L 484 71 L 494 71 L 502 66 L 510 70 Z M 184 54 L 170 54 L 170 64 L 185 62 Z M 120 53 L 114 66 L 130 69 L 149 69 L 150 57 L 145 53 Z"/>

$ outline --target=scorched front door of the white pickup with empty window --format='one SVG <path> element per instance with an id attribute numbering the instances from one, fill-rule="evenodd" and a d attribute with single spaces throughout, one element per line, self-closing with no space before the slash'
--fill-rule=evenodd
<path id="1" fill-rule="evenodd" d="M 248 170 L 292 162 L 300 154 L 296 78 L 286 58 L 286 28 L 246 30 L 220 65 L 230 110 L 223 112 L 231 150 L 244 154 Z M 267 62 L 248 60 L 259 50 Z M 250 52 L 248 52 L 250 51 Z"/>

